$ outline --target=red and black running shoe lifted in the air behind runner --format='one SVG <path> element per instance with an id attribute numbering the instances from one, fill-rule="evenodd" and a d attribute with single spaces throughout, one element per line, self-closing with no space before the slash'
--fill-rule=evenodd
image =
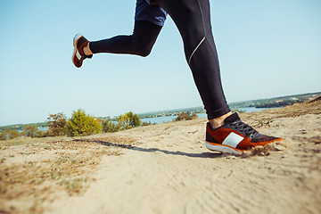
<path id="1" fill-rule="evenodd" d="M 86 55 L 84 53 L 84 46 L 86 46 L 88 44 L 88 40 L 86 39 L 86 37 L 83 37 L 80 34 L 77 34 L 74 38 L 73 38 L 73 45 L 74 45 L 74 52 L 72 53 L 72 62 L 74 63 L 74 65 L 77 68 L 80 68 L 82 65 L 82 62 L 86 59 L 86 58 L 92 58 L 93 55 Z"/>

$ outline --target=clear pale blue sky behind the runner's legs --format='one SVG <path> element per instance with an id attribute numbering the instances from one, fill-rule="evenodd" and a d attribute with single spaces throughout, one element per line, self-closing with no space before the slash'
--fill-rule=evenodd
<path id="1" fill-rule="evenodd" d="M 147 58 L 97 54 L 76 69 L 72 38 L 131 34 L 136 1 L 0 0 L 0 126 L 202 106 L 173 21 Z M 321 1 L 211 0 L 228 102 L 321 91 Z"/>

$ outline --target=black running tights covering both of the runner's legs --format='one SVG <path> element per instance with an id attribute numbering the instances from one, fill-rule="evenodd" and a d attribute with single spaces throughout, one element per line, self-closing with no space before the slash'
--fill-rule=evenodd
<path id="1" fill-rule="evenodd" d="M 183 38 L 186 61 L 201 95 L 208 119 L 218 118 L 229 107 L 223 92 L 218 53 L 210 24 L 209 0 L 157 0 L 169 12 Z M 152 50 L 161 27 L 149 21 L 136 21 L 131 36 L 118 36 L 90 42 L 93 53 L 130 53 L 146 56 Z M 148 38 L 148 39 L 146 39 Z"/>

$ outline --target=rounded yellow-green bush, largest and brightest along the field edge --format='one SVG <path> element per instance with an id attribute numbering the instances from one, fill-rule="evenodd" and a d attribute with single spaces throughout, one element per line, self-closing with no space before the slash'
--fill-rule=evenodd
<path id="1" fill-rule="evenodd" d="M 68 136 L 89 136 L 102 132 L 102 124 L 85 111 L 73 111 L 71 119 L 66 124 Z"/>

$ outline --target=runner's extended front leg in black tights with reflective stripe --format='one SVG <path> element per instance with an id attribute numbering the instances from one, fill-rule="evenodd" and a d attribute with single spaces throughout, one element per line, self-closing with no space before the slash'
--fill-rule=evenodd
<path id="1" fill-rule="evenodd" d="M 230 112 L 220 79 L 218 53 L 210 24 L 209 0 L 157 0 L 169 12 L 183 38 L 185 57 L 208 119 Z"/>

